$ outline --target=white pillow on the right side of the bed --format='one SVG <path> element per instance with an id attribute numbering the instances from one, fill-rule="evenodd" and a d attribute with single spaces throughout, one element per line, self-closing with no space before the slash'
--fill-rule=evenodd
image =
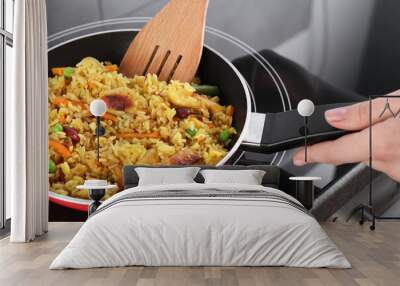
<path id="1" fill-rule="evenodd" d="M 262 170 L 202 170 L 205 184 L 234 183 L 246 185 L 261 185 L 265 171 Z"/>

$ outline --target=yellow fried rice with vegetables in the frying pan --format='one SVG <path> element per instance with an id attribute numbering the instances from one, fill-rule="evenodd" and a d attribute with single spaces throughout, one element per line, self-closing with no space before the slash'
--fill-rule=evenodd
<path id="1" fill-rule="evenodd" d="M 154 74 L 127 78 L 118 67 L 87 57 L 49 78 L 49 183 L 62 195 L 88 198 L 77 185 L 90 178 L 122 187 L 124 165 L 217 164 L 234 135 L 233 106 L 195 92 L 189 83 Z M 96 120 L 89 105 L 103 99 L 97 161 Z M 224 136 L 222 136 L 224 135 Z M 222 137 L 221 137 L 222 136 Z M 222 140 L 221 140 L 222 138 Z M 106 197 L 118 190 L 108 190 Z"/>

